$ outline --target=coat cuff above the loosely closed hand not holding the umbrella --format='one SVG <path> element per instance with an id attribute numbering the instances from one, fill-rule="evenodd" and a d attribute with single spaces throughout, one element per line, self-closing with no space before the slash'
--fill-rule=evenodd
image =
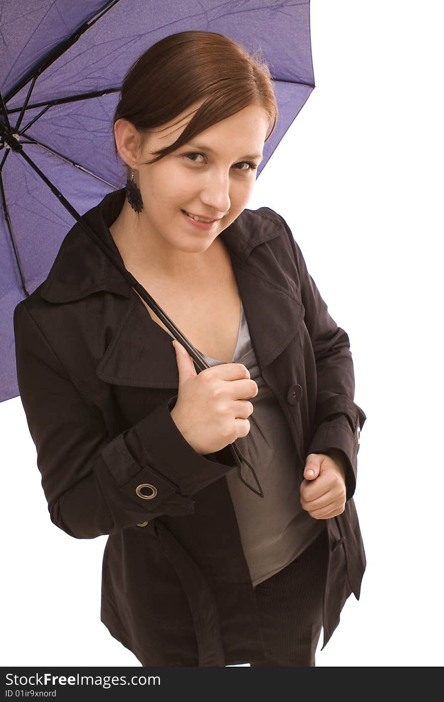
<path id="1" fill-rule="evenodd" d="M 330 449 L 342 451 L 346 464 L 345 486 L 346 501 L 354 496 L 356 478 L 358 473 L 358 451 L 361 437 L 361 427 L 357 423 L 354 431 L 351 430 L 349 420 L 345 415 L 337 415 L 321 423 L 311 440 L 309 453 L 325 453 Z"/>

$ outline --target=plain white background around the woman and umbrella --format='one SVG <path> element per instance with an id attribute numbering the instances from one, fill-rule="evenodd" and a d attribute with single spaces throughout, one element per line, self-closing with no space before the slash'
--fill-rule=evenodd
<path id="1" fill-rule="evenodd" d="M 442 37 L 438 0 L 311 0 L 316 88 L 248 205 L 290 225 L 367 415 L 368 564 L 317 666 L 443 665 Z M 100 622 L 107 536 L 52 524 L 20 397 L 0 424 L 2 665 L 140 665 Z"/>

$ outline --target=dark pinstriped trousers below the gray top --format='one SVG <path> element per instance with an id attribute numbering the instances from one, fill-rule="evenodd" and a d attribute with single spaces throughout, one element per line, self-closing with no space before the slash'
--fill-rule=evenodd
<path id="1" fill-rule="evenodd" d="M 252 668 L 314 666 L 322 628 L 328 534 L 319 536 L 283 570 L 255 587 L 266 660 Z"/>

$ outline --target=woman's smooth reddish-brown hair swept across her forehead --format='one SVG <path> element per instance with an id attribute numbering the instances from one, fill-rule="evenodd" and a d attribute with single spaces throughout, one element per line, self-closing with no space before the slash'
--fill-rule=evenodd
<path id="1" fill-rule="evenodd" d="M 123 79 L 121 98 L 114 112 L 141 133 L 166 124 L 206 98 L 179 138 L 152 164 L 186 144 L 194 136 L 249 105 L 261 105 L 269 114 L 271 136 L 278 120 L 278 106 L 269 67 L 257 49 L 250 55 L 224 34 L 193 30 L 163 37 L 133 63 Z M 114 153 L 118 157 L 114 138 Z M 130 169 L 123 166 L 129 175 Z"/>

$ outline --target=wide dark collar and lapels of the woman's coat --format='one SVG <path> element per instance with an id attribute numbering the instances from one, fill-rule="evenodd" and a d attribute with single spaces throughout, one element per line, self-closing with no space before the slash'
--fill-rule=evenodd
<path id="1" fill-rule="evenodd" d="M 121 263 L 109 226 L 121 211 L 124 199 L 125 189 L 116 190 L 83 215 Z M 302 301 L 285 275 L 281 273 L 276 281 L 268 265 L 264 272 L 264 264 L 249 265 L 247 261 L 259 244 L 283 232 L 278 217 L 273 218 L 271 212 L 268 208 L 245 209 L 220 234 L 231 257 L 261 370 L 290 343 L 304 317 Z M 276 270 L 276 261 L 274 266 Z M 169 333 L 154 322 L 130 282 L 76 223 L 62 241 L 40 294 L 50 303 L 67 303 L 97 291 L 130 300 L 97 365 L 97 376 L 114 385 L 177 389 L 178 371 Z"/>

